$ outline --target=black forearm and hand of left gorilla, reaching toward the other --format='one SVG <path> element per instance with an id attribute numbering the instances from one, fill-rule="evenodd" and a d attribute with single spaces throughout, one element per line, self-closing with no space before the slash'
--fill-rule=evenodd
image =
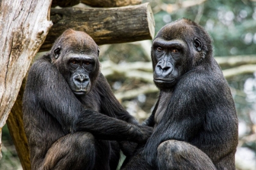
<path id="1" fill-rule="evenodd" d="M 91 132 L 94 137 L 102 140 L 128 140 L 137 143 L 146 143 L 152 133 L 146 126 L 130 124 L 93 110 L 82 112 L 77 122 L 77 131 Z"/>

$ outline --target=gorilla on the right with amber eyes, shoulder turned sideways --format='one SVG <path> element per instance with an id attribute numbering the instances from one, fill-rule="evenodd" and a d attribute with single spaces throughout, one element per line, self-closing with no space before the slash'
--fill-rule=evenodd
<path id="1" fill-rule="evenodd" d="M 188 19 L 167 24 L 151 56 L 160 95 L 145 124 L 154 130 L 123 169 L 235 169 L 238 120 L 208 33 Z"/>

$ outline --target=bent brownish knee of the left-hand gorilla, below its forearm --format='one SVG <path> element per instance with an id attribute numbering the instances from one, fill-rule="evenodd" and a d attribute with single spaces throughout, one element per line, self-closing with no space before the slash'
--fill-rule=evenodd
<path id="1" fill-rule="evenodd" d="M 52 144 L 40 169 L 93 169 L 95 141 L 89 132 L 65 135 Z"/>

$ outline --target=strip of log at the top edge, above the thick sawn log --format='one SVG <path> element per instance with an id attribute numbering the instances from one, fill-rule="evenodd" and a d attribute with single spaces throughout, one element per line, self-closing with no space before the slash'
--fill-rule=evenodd
<path id="1" fill-rule="evenodd" d="M 82 0 L 82 3 L 91 7 L 123 7 L 127 5 L 141 4 L 142 0 Z"/>

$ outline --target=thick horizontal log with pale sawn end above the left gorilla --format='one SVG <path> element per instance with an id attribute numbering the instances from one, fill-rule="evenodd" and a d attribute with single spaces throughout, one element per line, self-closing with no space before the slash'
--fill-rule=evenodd
<path id="1" fill-rule="evenodd" d="M 66 29 L 87 32 L 98 45 L 152 39 L 155 32 L 149 3 L 109 9 L 51 9 L 51 20 L 54 25 L 40 51 L 51 49 Z"/>

